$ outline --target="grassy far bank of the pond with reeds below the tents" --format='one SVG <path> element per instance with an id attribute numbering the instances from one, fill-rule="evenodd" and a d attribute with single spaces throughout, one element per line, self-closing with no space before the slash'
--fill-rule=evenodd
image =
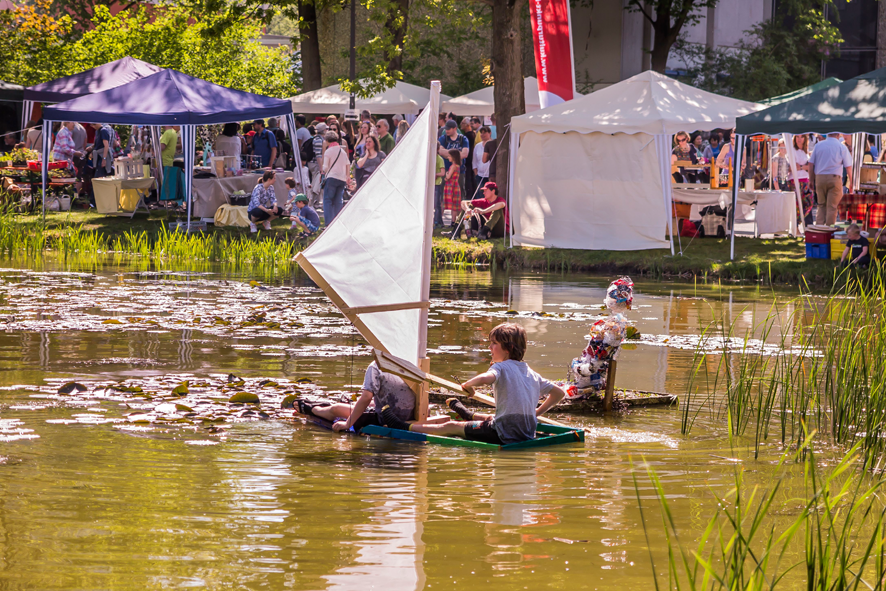
<path id="1" fill-rule="evenodd" d="M 78 210 L 50 213 L 46 225 L 39 214 L 6 214 L 5 240 L 0 249 L 113 250 L 161 258 L 245 260 L 283 263 L 308 241 L 289 232 L 288 220 L 276 220 L 271 231 L 251 234 L 246 228 L 215 228 L 206 235 L 172 240 L 165 233 L 174 213 L 137 214 L 134 219 Z M 74 240 L 73 238 L 76 238 Z M 187 239 L 185 239 L 187 238 Z M 763 281 L 765 283 L 827 287 L 834 281 L 832 261 L 806 260 L 802 239 L 753 240 L 739 238 L 736 258 L 729 260 L 729 241 L 695 239 L 684 252 L 670 250 L 591 251 L 507 248 L 504 240 L 456 241 L 435 235 L 434 259 L 441 264 L 484 264 L 502 269 L 549 272 L 627 273 L 637 277 L 699 279 L 708 281 Z"/>

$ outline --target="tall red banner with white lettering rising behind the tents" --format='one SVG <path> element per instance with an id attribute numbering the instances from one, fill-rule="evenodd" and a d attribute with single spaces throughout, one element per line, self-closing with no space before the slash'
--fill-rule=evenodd
<path id="1" fill-rule="evenodd" d="M 572 100 L 575 67 L 569 0 L 529 0 L 541 108 Z"/>

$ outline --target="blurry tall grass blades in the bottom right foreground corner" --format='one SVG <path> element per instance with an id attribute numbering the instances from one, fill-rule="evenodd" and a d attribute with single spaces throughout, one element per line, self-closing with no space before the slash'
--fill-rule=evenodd
<path id="1" fill-rule="evenodd" d="M 742 469 L 737 466 L 734 486 L 725 494 L 714 493 L 717 508 L 694 548 L 681 539 L 686 532 L 677 529 L 664 486 L 655 471 L 646 466 L 661 511 L 668 550 L 666 585 L 659 584 L 655 558 L 650 553 L 655 588 L 884 589 L 886 512 L 877 496 L 884 480 L 871 479 L 856 469 L 860 443 L 834 468 L 823 473 L 809 445 L 812 439 L 805 440 L 794 454 L 794 459 L 804 464 L 804 498 L 780 506 L 785 464 L 790 463 L 786 462 L 787 453 L 778 465 L 781 474 L 765 489 L 746 485 Z M 636 472 L 634 487 L 642 515 Z M 793 514 L 798 504 L 799 514 L 787 528 L 777 531 L 772 520 L 787 511 Z M 643 528 L 648 540 L 645 519 Z"/>

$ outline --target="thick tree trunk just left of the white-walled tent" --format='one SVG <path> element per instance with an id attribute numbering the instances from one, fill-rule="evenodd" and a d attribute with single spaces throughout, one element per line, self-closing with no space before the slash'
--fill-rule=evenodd
<path id="1" fill-rule="evenodd" d="M 492 75 L 495 79 L 493 97 L 499 146 L 495 160 L 495 181 L 499 195 L 505 199 L 508 198 L 511 117 L 526 112 L 520 25 L 528 16 L 524 0 L 493 0 Z"/>

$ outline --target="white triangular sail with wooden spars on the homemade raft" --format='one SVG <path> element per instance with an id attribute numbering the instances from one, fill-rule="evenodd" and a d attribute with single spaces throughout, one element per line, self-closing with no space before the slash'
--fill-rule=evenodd
<path id="1" fill-rule="evenodd" d="M 440 84 L 412 128 L 296 260 L 376 347 L 426 354 Z"/>

